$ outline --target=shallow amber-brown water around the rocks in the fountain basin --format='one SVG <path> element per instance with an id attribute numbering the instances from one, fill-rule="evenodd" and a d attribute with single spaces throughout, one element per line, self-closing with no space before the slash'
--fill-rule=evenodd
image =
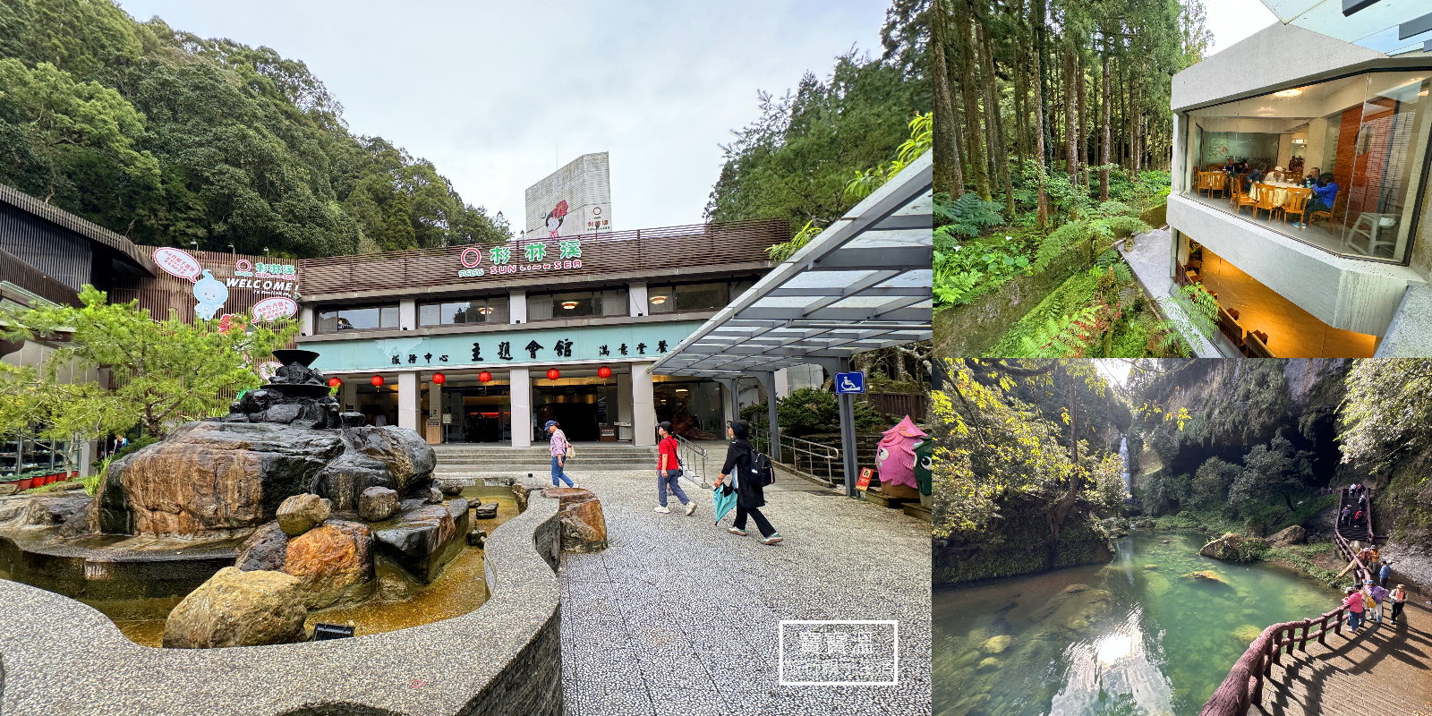
<path id="1" fill-rule="evenodd" d="M 517 501 L 507 488 L 467 488 L 463 497 L 474 504 L 497 503 L 495 520 L 473 520 L 473 527 L 488 534 L 504 521 L 517 516 Z M 461 540 L 463 536 L 458 536 Z M 430 624 L 444 619 L 467 614 L 487 601 L 483 548 L 464 546 L 438 579 L 421 584 L 400 567 L 378 560 L 378 593 L 375 599 L 355 606 L 335 606 L 309 611 L 305 627 L 324 621 L 328 624 L 352 624 L 355 634 L 377 634 L 411 626 Z M 132 642 L 145 646 L 163 646 L 165 616 L 185 596 L 147 600 L 89 601 L 95 609 L 115 620 L 115 624 Z"/>

